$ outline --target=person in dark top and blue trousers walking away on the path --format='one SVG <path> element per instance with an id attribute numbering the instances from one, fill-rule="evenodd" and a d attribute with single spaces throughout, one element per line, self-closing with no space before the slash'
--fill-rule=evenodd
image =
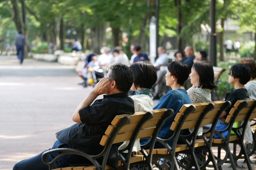
<path id="1" fill-rule="evenodd" d="M 23 58 L 24 58 L 24 47 L 26 45 L 26 40 L 25 36 L 22 35 L 22 32 L 19 30 L 18 35 L 15 37 L 15 45 L 16 45 L 16 50 L 17 50 L 17 58 L 19 59 L 19 63 L 23 63 Z M 21 55 L 19 54 L 21 53 Z"/>

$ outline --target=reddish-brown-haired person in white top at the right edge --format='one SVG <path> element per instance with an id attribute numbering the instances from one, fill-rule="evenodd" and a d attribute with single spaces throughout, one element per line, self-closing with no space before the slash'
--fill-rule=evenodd
<path id="1" fill-rule="evenodd" d="M 251 69 L 251 79 L 244 86 L 246 87 L 249 97 L 256 100 L 256 63 L 251 57 L 244 58 L 241 63 L 246 64 Z"/>

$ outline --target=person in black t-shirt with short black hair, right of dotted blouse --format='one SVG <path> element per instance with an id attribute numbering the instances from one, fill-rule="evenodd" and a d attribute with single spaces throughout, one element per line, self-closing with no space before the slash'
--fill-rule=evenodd
<path id="1" fill-rule="evenodd" d="M 228 83 L 232 84 L 235 89 L 226 94 L 225 101 L 230 101 L 231 106 L 222 112 L 220 119 L 217 124 L 228 125 L 225 120 L 227 119 L 228 113 L 237 100 L 248 99 L 249 95 L 245 88 L 245 84 L 251 78 L 251 70 L 246 64 L 235 64 L 230 68 L 228 77 Z"/>

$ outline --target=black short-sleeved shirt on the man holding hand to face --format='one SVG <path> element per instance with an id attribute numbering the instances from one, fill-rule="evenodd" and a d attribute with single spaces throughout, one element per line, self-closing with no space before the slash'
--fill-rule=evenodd
<path id="1" fill-rule="evenodd" d="M 82 123 L 76 123 L 57 132 L 56 137 L 73 149 L 97 155 L 104 149 L 100 141 L 114 117 L 133 113 L 134 101 L 128 92 L 104 95 L 103 99 L 95 100 L 92 105 L 79 110 Z M 112 148 L 117 154 L 117 147 Z"/>

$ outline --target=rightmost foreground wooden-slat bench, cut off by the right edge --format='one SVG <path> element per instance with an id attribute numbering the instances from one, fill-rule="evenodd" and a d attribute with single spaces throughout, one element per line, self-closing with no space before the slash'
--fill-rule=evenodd
<path id="1" fill-rule="evenodd" d="M 229 115 L 227 116 L 226 122 L 229 123 L 226 129 L 224 130 L 215 130 L 215 132 L 220 136 L 220 139 L 214 139 L 212 146 L 218 147 L 218 155 L 216 156 L 216 160 L 219 169 L 221 169 L 221 165 L 226 163 L 231 163 L 233 169 L 236 169 L 236 161 L 238 159 L 244 158 L 247 163 L 247 168 L 252 170 L 251 162 L 249 156 L 253 153 L 247 153 L 246 148 L 244 146 L 244 134 L 246 130 L 246 125 L 250 119 L 256 118 L 256 102 L 253 99 L 248 100 L 238 100 L 234 107 L 230 110 Z M 241 122 L 243 121 L 243 122 Z M 239 127 L 233 127 L 234 122 L 241 122 Z M 231 130 L 236 135 L 231 135 Z M 223 136 L 222 133 L 227 131 L 227 137 Z M 240 146 L 240 152 L 236 155 L 236 149 L 233 149 L 233 153 L 231 153 L 229 148 L 229 143 L 234 143 L 234 146 L 237 144 Z M 221 159 L 221 149 L 226 151 L 226 155 L 224 159 Z M 242 155 L 244 155 L 242 157 Z M 229 161 L 227 161 L 229 158 Z"/>

